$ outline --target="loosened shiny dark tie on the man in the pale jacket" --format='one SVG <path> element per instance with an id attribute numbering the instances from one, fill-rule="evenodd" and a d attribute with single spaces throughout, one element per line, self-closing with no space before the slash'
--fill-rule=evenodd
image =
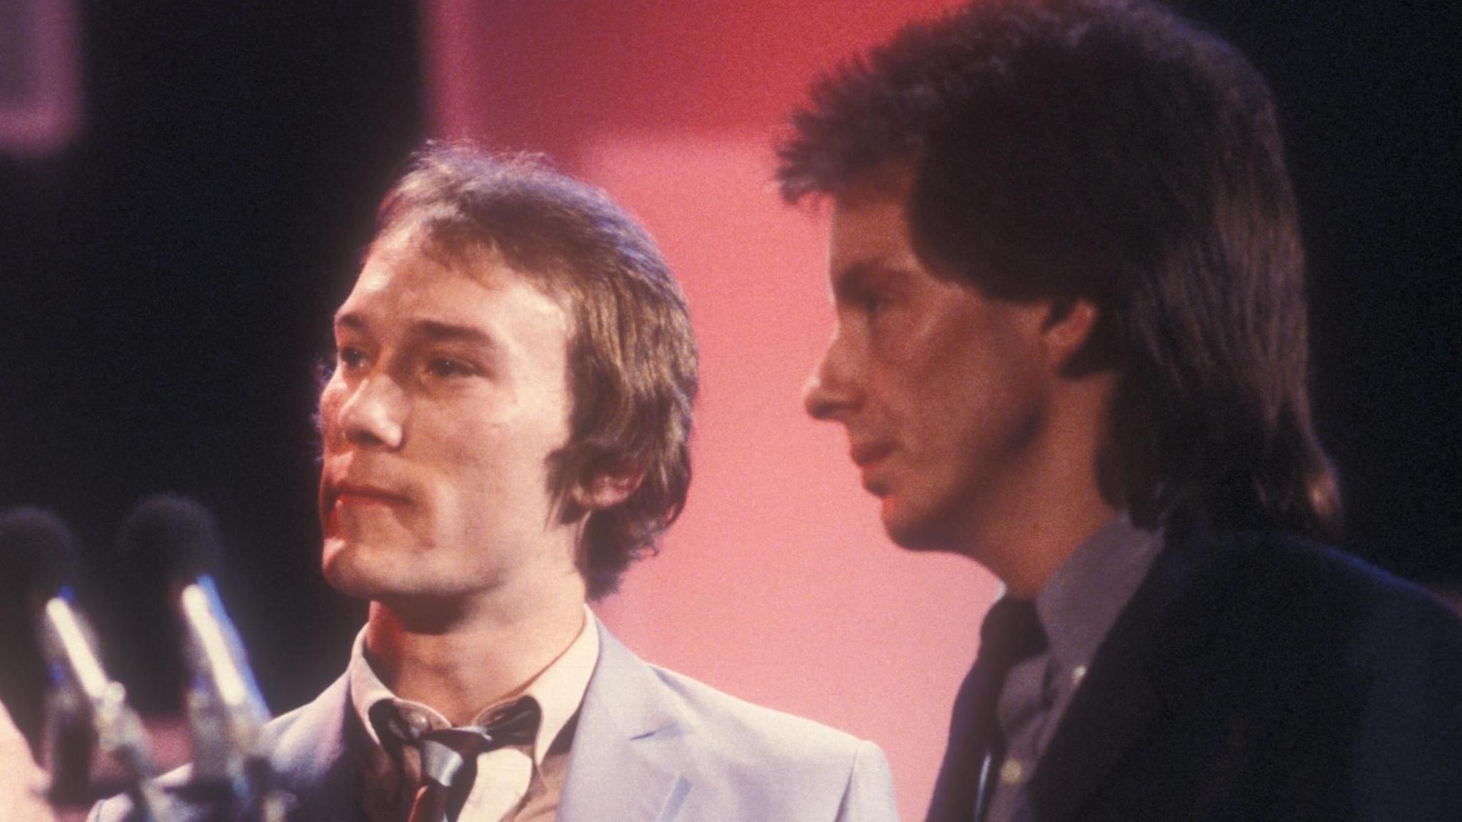
<path id="1" fill-rule="evenodd" d="M 382 723 L 401 743 L 421 752 L 421 783 L 411 803 L 409 822 L 456 819 L 462 803 L 472 793 L 478 755 L 513 744 L 532 744 L 539 718 L 538 702 L 525 696 L 493 714 L 482 725 L 414 734 L 405 723 Z"/>

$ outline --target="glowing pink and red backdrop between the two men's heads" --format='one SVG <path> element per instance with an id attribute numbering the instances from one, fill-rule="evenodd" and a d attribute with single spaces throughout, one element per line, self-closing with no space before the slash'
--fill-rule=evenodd
<path id="1" fill-rule="evenodd" d="M 892 546 L 839 429 L 801 411 L 830 331 L 826 221 L 772 142 L 808 80 L 909 3 L 427 4 L 440 136 L 548 151 L 655 234 L 702 347 L 696 477 L 664 553 L 599 607 L 639 654 L 873 739 L 923 818 L 994 581 Z"/>

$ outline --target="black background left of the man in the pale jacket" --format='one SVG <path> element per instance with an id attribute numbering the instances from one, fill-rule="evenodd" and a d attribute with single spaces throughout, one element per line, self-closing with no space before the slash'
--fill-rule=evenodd
<path id="1" fill-rule="evenodd" d="M 0 508 L 73 525 L 111 673 L 162 711 L 177 639 L 117 528 L 143 496 L 199 499 L 268 701 L 295 705 L 342 667 L 363 613 L 320 579 L 310 412 L 327 317 L 423 136 L 414 4 L 80 12 L 79 137 L 0 158 Z M 34 739 L 41 674 L 4 635 L 0 698 Z"/>

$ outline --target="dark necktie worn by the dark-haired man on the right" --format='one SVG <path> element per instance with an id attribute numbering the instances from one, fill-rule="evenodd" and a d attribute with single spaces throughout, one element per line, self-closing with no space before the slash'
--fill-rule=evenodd
<path id="1" fill-rule="evenodd" d="M 949 749 L 934 784 L 930 822 L 980 822 L 990 807 L 1004 761 L 1004 733 L 996 715 L 1010 668 L 1047 648 L 1035 603 L 1001 597 L 980 626 L 980 655 L 959 687 Z"/>

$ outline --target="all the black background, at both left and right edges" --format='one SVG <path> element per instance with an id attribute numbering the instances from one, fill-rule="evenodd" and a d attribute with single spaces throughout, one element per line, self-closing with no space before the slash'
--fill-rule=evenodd
<path id="1" fill-rule="evenodd" d="M 80 3 L 83 130 L 48 158 L 0 157 L 0 508 L 73 524 L 79 597 L 143 711 L 181 682 L 156 576 L 114 547 L 146 494 L 216 513 L 222 594 L 275 709 L 338 674 L 363 614 L 317 570 L 310 411 L 326 317 L 425 133 L 418 23 L 412 3 L 260 6 Z M 1376 3 L 1181 6 L 1281 104 L 1351 547 L 1462 589 L 1447 28 Z M 34 734 L 41 671 L 16 610 L 0 603 L 0 699 Z"/>

